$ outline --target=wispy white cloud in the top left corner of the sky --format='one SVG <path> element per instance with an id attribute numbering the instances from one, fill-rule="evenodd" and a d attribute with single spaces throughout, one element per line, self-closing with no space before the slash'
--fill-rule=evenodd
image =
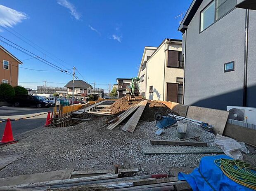
<path id="1" fill-rule="evenodd" d="M 13 27 L 24 19 L 28 19 L 27 14 L 0 5 L 0 26 Z"/>

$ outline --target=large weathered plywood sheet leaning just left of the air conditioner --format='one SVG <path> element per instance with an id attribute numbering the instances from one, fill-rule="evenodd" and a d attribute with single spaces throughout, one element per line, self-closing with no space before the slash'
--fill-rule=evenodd
<path id="1" fill-rule="evenodd" d="M 213 126 L 213 133 L 216 135 L 223 134 L 229 112 L 210 109 L 206 107 L 189 106 L 187 110 L 187 118 L 195 119 L 197 121 L 204 121 Z"/>

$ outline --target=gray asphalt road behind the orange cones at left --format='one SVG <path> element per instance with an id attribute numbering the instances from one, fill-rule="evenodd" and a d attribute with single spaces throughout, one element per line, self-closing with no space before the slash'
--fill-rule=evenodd
<path id="1" fill-rule="evenodd" d="M 24 116 L 31 116 L 39 113 L 45 113 L 47 111 L 52 111 L 50 108 L 36 108 L 36 107 L 0 107 L 0 121 L 3 119 L 16 119 Z M 12 131 L 14 135 L 23 133 L 27 130 L 32 130 L 38 128 L 45 124 L 47 114 L 21 119 L 19 121 L 12 121 Z M 6 122 L 0 123 L 0 140 L 2 139 L 2 134 L 4 132 Z"/>

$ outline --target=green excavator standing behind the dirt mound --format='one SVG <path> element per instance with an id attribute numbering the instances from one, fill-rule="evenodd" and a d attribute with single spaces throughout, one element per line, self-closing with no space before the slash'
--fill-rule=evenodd
<path id="1" fill-rule="evenodd" d="M 126 99 L 128 101 L 142 100 L 142 96 L 140 95 L 140 78 L 133 77 L 132 85 L 126 86 Z"/>

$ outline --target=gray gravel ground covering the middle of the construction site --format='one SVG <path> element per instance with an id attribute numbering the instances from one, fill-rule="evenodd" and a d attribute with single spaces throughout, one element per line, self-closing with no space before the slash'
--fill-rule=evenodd
<path id="1" fill-rule="evenodd" d="M 155 135 L 155 121 L 140 121 L 135 132 L 102 128 L 106 117 L 95 116 L 91 121 L 66 128 L 45 128 L 16 144 L 0 148 L 0 155 L 21 154 L 14 163 L 0 171 L 0 177 L 9 177 L 52 170 L 73 168 L 74 170 L 139 168 L 136 175 L 191 172 L 206 154 L 144 155 L 142 147 L 171 147 L 151 145 L 152 139 L 179 140 L 176 128 L 171 127 L 159 136 Z M 200 135 L 199 141 L 211 146 L 215 135 L 201 127 L 188 123 L 187 137 Z M 191 141 L 191 140 L 190 140 Z M 185 147 L 185 146 L 172 146 Z"/>

